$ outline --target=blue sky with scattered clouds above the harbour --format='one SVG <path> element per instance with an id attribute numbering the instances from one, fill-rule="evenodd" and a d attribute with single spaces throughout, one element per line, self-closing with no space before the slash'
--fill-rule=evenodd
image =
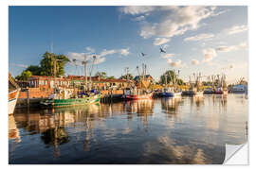
<path id="1" fill-rule="evenodd" d="M 81 61 L 97 56 L 97 71 L 137 75 L 144 62 L 156 79 L 180 70 L 247 78 L 247 7 L 10 7 L 9 72 L 39 64 L 47 51 Z M 160 54 L 163 47 L 167 54 Z M 142 57 L 140 53 L 147 54 Z M 82 75 L 78 62 L 69 75 Z M 140 67 L 141 68 L 141 67 Z"/>

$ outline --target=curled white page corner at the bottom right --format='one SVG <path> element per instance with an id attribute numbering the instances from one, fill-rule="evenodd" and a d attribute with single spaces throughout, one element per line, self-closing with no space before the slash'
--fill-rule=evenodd
<path id="1" fill-rule="evenodd" d="M 246 144 L 226 144 L 226 155 L 223 164 L 248 164 L 247 155 L 247 143 Z"/>

